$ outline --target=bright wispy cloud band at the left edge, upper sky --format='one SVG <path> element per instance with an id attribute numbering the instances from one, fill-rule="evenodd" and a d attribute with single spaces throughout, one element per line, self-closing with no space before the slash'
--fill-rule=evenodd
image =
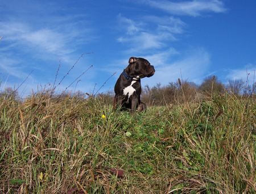
<path id="1" fill-rule="evenodd" d="M 67 60 L 65 56 L 75 52 L 76 38 L 80 37 L 75 30 L 63 31 L 54 28 L 35 29 L 26 23 L 0 22 L 0 34 L 3 36 L 2 41 L 5 42 L 3 44 L 23 48 L 23 51 L 27 50 L 30 54 L 47 53 Z"/>

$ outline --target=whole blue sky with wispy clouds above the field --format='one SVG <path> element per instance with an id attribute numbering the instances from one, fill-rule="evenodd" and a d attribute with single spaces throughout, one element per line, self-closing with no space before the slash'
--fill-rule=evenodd
<path id="1" fill-rule="evenodd" d="M 112 0 L 13 1 L 0 3 L 0 81 L 26 96 L 57 83 L 69 90 L 113 91 L 131 56 L 155 66 L 142 85 L 200 84 L 209 75 L 224 83 L 256 69 L 256 1 Z M 247 73 L 246 73 L 247 72 Z M 95 88 L 94 88 L 95 87 Z"/>

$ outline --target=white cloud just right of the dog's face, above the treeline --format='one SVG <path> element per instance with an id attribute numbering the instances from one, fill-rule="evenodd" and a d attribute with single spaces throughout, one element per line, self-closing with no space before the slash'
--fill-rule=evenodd
<path id="1" fill-rule="evenodd" d="M 184 57 L 174 62 L 170 62 L 168 54 L 159 53 L 159 56 L 161 61 L 159 66 L 155 66 L 155 75 L 143 80 L 143 85 L 155 86 L 156 83 L 167 85 L 170 82 L 176 82 L 181 76 L 183 80 L 199 83 L 210 66 L 210 54 L 204 48 L 195 48 L 187 54 L 181 53 L 179 56 Z M 151 57 L 154 58 L 154 56 L 148 56 L 148 58 Z"/>

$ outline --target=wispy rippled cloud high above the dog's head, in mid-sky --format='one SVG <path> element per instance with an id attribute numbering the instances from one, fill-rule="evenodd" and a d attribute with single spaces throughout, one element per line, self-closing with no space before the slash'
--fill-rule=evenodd
<path id="1" fill-rule="evenodd" d="M 175 41 L 175 34 L 183 33 L 185 27 L 184 22 L 174 17 L 144 16 L 132 20 L 119 15 L 118 21 L 126 33 L 117 41 L 130 47 L 126 53 L 142 54 L 145 50 L 163 48 L 167 41 Z"/>

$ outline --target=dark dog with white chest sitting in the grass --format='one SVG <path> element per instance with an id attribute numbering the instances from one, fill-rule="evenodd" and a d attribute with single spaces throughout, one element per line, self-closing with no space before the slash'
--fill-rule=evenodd
<path id="1" fill-rule="evenodd" d="M 141 102 L 141 79 L 155 74 L 155 68 L 144 58 L 130 57 L 129 65 L 123 70 L 114 91 L 114 109 L 144 111 L 146 104 Z"/>

